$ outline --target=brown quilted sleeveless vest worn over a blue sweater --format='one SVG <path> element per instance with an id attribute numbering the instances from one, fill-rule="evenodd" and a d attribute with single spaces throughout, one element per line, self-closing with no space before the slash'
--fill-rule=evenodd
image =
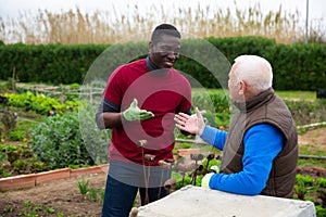
<path id="1" fill-rule="evenodd" d="M 271 124 L 283 132 L 285 144 L 273 161 L 269 178 L 261 194 L 292 199 L 298 163 L 298 132 L 290 111 L 272 88 L 250 99 L 246 104 L 235 105 L 238 110 L 224 145 L 221 171 L 241 171 L 246 131 L 258 124 Z"/>

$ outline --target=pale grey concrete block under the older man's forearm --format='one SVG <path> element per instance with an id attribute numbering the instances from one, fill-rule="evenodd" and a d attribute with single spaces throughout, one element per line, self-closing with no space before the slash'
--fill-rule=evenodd
<path id="1" fill-rule="evenodd" d="M 138 217 L 315 217 L 312 202 L 187 186 L 138 208 Z"/>

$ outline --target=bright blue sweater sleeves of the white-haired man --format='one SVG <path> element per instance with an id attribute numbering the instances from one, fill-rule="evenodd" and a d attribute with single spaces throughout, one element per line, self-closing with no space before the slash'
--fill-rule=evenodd
<path id="1" fill-rule="evenodd" d="M 223 150 L 227 132 L 205 126 L 201 138 Z M 243 137 L 243 170 L 237 174 L 215 174 L 210 188 L 225 192 L 256 195 L 265 188 L 273 159 L 284 145 L 283 133 L 269 124 L 260 124 L 247 130 Z"/>

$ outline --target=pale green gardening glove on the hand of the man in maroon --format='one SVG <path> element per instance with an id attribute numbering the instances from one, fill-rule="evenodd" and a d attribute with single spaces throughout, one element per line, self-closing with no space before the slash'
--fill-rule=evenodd
<path id="1" fill-rule="evenodd" d="M 140 110 L 137 104 L 138 104 L 137 99 L 134 99 L 130 106 L 123 112 L 123 116 L 126 120 L 133 122 L 136 119 L 148 119 L 154 116 L 152 112 Z"/>

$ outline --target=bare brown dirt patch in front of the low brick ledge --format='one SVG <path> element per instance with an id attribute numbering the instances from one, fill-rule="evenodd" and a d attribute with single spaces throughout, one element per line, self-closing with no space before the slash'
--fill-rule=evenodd
<path id="1" fill-rule="evenodd" d="M 77 184 L 82 177 L 73 177 L 1 193 L 0 215 L 16 217 L 26 212 L 38 216 L 58 216 L 60 213 L 76 217 L 100 216 L 102 205 L 99 192 L 105 187 L 106 174 L 86 175 L 85 180 L 89 180 L 89 189 L 97 191 L 97 201 L 91 201 L 89 194 L 83 196 Z"/>

